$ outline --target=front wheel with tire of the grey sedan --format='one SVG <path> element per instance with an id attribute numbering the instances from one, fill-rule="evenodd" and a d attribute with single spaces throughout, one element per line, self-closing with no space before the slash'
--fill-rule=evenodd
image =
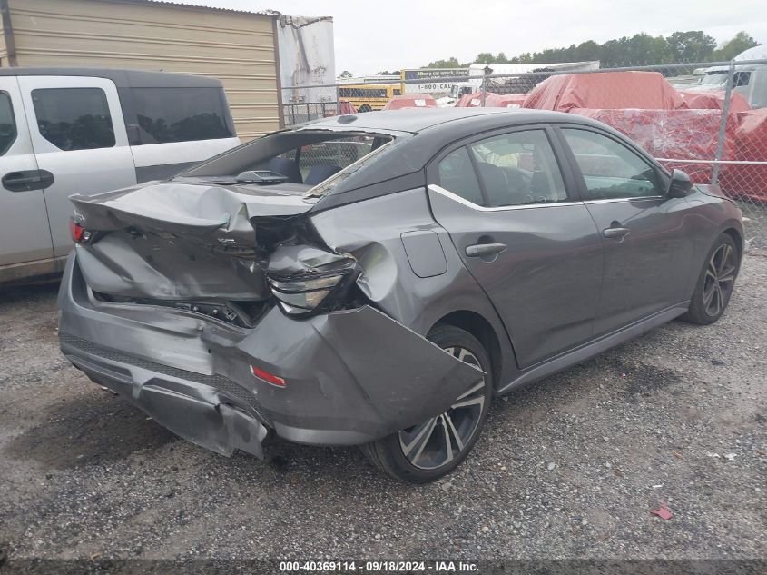
<path id="1" fill-rule="evenodd" d="M 722 317 L 733 295 L 735 279 L 741 268 L 741 254 L 733 238 L 721 234 L 706 255 L 698 275 L 690 309 L 682 316 L 685 322 L 708 325 Z"/>

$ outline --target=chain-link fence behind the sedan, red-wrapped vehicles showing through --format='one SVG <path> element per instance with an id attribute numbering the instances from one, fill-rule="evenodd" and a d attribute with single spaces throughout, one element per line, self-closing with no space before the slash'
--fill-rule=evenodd
<path id="1" fill-rule="evenodd" d="M 514 74 L 467 71 L 422 81 L 283 88 L 284 124 L 336 114 L 438 106 L 536 108 L 614 127 L 668 169 L 718 184 L 739 203 L 750 248 L 767 248 L 767 60 Z M 477 72 L 479 73 L 478 75 Z"/>

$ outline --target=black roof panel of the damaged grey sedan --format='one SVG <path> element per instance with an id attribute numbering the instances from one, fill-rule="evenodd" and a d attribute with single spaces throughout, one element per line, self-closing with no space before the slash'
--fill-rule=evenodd
<path id="1" fill-rule="evenodd" d="M 581 120 L 583 122 L 581 122 Z M 527 108 L 405 108 L 402 110 L 381 110 L 361 114 L 345 114 L 322 118 L 314 122 L 302 124 L 303 129 L 355 129 L 379 130 L 388 132 L 409 132 L 418 134 L 428 128 L 447 123 L 459 123 L 482 129 L 493 129 L 514 124 L 535 124 L 547 122 L 576 122 L 592 124 L 593 122 L 574 114 L 534 110 Z M 462 127 L 463 127 L 462 125 Z M 455 129 L 456 124 L 450 128 Z"/>

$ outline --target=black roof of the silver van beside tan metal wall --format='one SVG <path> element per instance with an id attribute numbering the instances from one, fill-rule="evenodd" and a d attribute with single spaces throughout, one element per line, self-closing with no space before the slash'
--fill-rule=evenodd
<path id="1" fill-rule="evenodd" d="M 0 68 L 2 76 L 84 76 L 112 80 L 118 88 L 221 88 L 216 78 L 124 68 Z"/>

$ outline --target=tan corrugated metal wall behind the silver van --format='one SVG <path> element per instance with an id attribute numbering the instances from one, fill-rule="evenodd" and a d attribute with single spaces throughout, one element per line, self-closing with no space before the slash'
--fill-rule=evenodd
<path id="1" fill-rule="evenodd" d="M 124 0 L 7 0 L 19 66 L 202 74 L 226 90 L 243 140 L 279 127 L 268 15 Z M 7 65 L 7 59 L 2 60 Z"/>

